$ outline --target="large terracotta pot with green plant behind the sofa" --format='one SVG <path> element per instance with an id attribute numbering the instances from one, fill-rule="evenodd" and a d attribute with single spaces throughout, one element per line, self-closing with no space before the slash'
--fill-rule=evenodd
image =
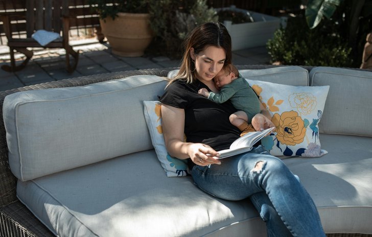
<path id="1" fill-rule="evenodd" d="M 148 6 L 152 0 L 89 0 L 91 9 L 100 14 L 102 33 L 112 53 L 139 57 L 153 38 Z"/>

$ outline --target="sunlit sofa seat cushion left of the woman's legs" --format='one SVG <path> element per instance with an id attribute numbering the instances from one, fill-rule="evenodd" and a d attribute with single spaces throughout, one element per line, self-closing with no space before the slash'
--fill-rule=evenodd
<path id="1" fill-rule="evenodd" d="M 206 195 L 191 177 L 168 178 L 154 150 L 31 181 L 17 196 L 58 236 L 258 236 L 265 224 L 249 200 Z"/>

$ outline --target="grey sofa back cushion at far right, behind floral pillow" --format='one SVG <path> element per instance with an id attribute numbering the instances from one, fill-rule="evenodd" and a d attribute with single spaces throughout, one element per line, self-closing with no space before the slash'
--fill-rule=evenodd
<path id="1" fill-rule="evenodd" d="M 320 132 L 372 136 L 372 72 L 315 67 L 310 71 L 310 84 L 330 86 Z"/>

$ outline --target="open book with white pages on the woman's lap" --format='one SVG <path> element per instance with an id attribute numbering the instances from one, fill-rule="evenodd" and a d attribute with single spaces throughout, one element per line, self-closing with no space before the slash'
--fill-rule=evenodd
<path id="1" fill-rule="evenodd" d="M 219 159 L 223 159 L 229 156 L 237 155 L 243 152 L 252 150 L 253 145 L 261 140 L 266 134 L 270 133 L 274 127 L 268 128 L 261 132 L 248 132 L 242 137 L 239 137 L 231 144 L 229 149 L 219 151 Z"/>

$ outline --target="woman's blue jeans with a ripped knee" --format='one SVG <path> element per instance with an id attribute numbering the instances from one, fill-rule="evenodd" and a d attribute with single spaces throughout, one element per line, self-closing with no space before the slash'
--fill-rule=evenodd
<path id="1" fill-rule="evenodd" d="M 314 202 L 298 177 L 261 146 L 210 168 L 194 165 L 192 176 L 212 196 L 226 200 L 249 197 L 266 222 L 269 237 L 325 236 Z"/>

